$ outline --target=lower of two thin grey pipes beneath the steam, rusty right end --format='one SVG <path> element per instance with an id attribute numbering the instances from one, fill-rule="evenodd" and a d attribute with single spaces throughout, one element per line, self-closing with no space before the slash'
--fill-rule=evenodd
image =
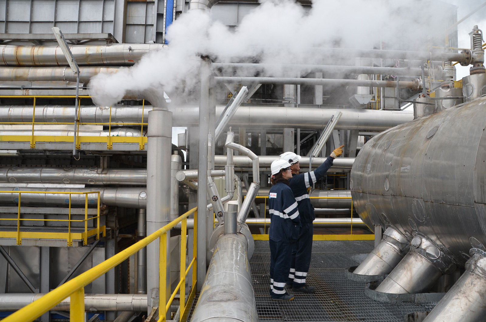
<path id="1" fill-rule="evenodd" d="M 326 86 L 365 86 L 365 87 L 397 87 L 396 81 L 360 80 L 360 79 L 330 79 L 330 78 L 291 78 L 291 77 L 214 77 L 219 83 L 253 83 L 281 85 L 326 85 Z M 399 88 L 418 90 L 417 82 L 399 82 Z"/>

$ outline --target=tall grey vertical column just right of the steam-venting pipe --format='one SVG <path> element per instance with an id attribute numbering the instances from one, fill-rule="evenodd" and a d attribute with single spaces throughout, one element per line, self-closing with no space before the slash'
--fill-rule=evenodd
<path id="1" fill-rule="evenodd" d="M 201 56 L 201 93 L 199 99 L 199 159 L 197 189 L 197 291 L 201 290 L 206 276 L 206 205 L 207 205 L 207 171 L 208 171 L 208 134 L 209 134 L 209 76 L 211 61 Z"/>

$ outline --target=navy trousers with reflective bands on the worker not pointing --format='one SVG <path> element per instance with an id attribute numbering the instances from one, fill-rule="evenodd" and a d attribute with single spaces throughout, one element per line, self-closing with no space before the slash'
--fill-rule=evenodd
<path id="1" fill-rule="evenodd" d="M 270 264 L 273 266 L 273 289 L 271 296 L 278 298 L 285 294 L 285 284 L 290 272 L 290 260 L 292 257 L 292 244 L 269 240 Z"/>

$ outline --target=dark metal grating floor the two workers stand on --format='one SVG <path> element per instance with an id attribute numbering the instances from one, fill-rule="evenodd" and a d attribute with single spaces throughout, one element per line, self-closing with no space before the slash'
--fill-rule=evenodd
<path id="1" fill-rule="evenodd" d="M 297 293 L 291 302 L 272 301 L 268 294 L 270 249 L 255 241 L 250 267 L 260 321 L 404 321 L 407 313 L 430 311 L 436 303 L 381 303 L 364 295 L 364 283 L 349 281 L 344 268 L 356 266 L 374 241 L 314 241 L 307 283 L 314 294 Z"/>

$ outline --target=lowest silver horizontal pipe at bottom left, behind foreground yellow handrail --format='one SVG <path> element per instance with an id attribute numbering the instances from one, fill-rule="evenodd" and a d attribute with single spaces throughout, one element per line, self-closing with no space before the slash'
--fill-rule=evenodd
<path id="1" fill-rule="evenodd" d="M 17 311 L 45 294 L 0 294 L 0 311 Z M 54 306 L 54 311 L 69 311 L 70 298 Z M 85 311 L 144 311 L 147 309 L 146 294 L 85 294 Z"/>

